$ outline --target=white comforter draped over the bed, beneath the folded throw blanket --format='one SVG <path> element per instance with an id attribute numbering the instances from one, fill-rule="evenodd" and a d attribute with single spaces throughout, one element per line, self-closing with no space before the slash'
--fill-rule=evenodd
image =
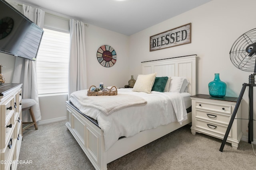
<path id="1" fill-rule="evenodd" d="M 106 151 L 118 141 L 119 137 L 130 137 L 140 131 L 175 121 L 182 123 L 187 119 L 184 100 L 178 93 L 152 91 L 151 94 L 147 94 L 144 92 L 132 92 L 131 88 L 121 88 L 118 89 L 118 94 L 140 96 L 147 101 L 147 104 L 126 107 L 106 115 L 94 107 L 84 107 L 74 97 L 70 98 L 70 102 L 82 113 L 98 121 L 99 127 L 104 132 Z"/>

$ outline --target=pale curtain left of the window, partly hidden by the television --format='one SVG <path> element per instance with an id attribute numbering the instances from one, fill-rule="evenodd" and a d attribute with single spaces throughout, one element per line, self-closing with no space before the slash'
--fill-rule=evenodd
<path id="1" fill-rule="evenodd" d="M 44 11 L 23 4 L 22 14 L 36 23 L 40 28 L 44 27 Z M 32 109 L 36 121 L 41 120 L 36 82 L 36 61 L 16 57 L 12 83 L 23 83 L 22 98 L 31 98 L 36 101 Z M 22 114 L 22 121 L 31 121 L 30 114 Z"/>

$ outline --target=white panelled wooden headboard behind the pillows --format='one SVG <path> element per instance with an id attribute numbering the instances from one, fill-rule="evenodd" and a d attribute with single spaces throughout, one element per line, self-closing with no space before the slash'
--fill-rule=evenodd
<path id="1" fill-rule="evenodd" d="M 188 55 L 170 59 L 160 59 L 142 62 L 142 74 L 157 72 L 156 76 L 179 76 L 186 77 L 190 84 L 188 92 L 196 94 L 196 56 Z"/>

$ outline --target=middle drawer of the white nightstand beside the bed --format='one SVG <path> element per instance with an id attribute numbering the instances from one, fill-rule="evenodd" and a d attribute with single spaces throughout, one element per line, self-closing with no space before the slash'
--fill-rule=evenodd
<path id="1" fill-rule="evenodd" d="M 213 121 L 215 123 L 220 123 L 224 125 L 228 125 L 230 121 L 231 115 L 217 113 L 217 112 L 210 112 L 196 109 L 196 119 L 205 119 L 207 121 Z"/>

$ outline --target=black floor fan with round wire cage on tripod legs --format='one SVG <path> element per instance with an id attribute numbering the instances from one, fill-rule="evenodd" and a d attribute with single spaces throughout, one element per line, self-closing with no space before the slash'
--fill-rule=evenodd
<path id="1" fill-rule="evenodd" d="M 256 28 L 247 31 L 236 39 L 230 50 L 230 60 L 236 68 L 247 72 L 253 72 L 253 74 L 250 74 L 249 76 L 249 83 L 244 83 L 242 86 L 238 101 L 230 118 L 225 136 L 222 140 L 220 147 L 221 152 L 223 151 L 224 145 L 227 141 L 228 134 L 236 117 L 236 112 L 238 111 L 238 107 L 241 103 L 246 87 L 249 87 L 248 143 L 253 142 L 253 87 L 256 86 Z"/>

